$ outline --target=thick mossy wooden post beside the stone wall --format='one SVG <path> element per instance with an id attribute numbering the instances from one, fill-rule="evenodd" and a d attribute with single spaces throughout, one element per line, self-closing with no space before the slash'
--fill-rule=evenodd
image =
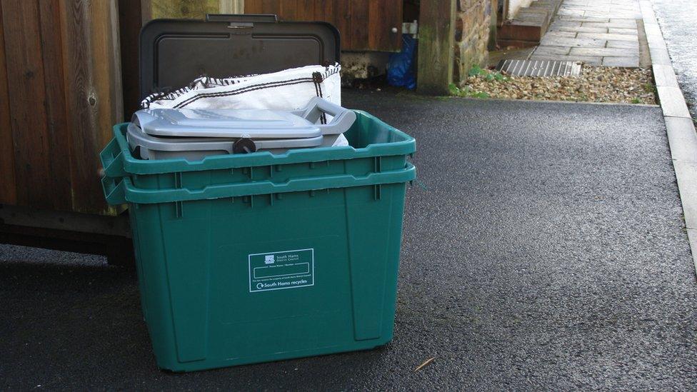
<path id="1" fill-rule="evenodd" d="M 418 85 L 421 94 L 448 94 L 453 80 L 456 0 L 421 0 Z"/>

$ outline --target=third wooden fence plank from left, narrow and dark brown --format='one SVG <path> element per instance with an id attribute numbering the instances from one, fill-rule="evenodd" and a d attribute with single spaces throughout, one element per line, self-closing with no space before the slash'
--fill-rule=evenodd
<path id="1" fill-rule="evenodd" d="M 48 177 L 53 207 L 71 211 L 70 134 L 66 119 L 61 18 L 57 1 L 39 1 L 41 54 L 46 89 L 46 136 L 49 141 Z"/>

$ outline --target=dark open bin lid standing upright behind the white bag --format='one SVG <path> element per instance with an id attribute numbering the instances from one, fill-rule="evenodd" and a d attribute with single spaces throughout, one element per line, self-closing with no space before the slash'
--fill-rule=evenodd
<path id="1" fill-rule="evenodd" d="M 201 75 L 264 74 L 339 61 L 339 31 L 326 22 L 279 22 L 276 15 L 154 19 L 140 34 L 141 99 Z"/>

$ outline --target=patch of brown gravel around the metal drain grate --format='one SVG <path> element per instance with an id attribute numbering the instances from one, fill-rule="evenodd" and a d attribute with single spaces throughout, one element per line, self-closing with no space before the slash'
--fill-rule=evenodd
<path id="1" fill-rule="evenodd" d="M 458 96 L 548 101 L 621 102 L 656 104 L 656 87 L 650 69 L 583 66 L 581 76 L 510 76 L 474 69 Z"/>

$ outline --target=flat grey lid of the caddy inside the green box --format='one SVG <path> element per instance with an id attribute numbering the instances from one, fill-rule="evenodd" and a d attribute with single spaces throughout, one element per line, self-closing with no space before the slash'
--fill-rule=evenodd
<path id="1" fill-rule="evenodd" d="M 143 109 L 132 122 L 151 136 L 304 139 L 319 126 L 287 111 L 261 109 Z"/>

